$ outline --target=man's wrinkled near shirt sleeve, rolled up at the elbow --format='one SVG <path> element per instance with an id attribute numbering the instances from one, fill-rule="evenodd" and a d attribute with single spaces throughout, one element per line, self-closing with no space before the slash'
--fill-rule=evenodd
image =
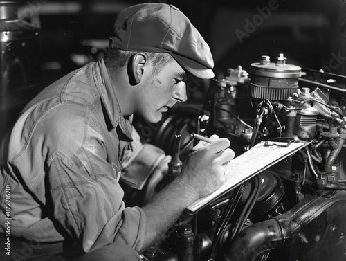
<path id="1" fill-rule="evenodd" d="M 138 251 L 145 239 L 145 214 L 125 208 L 118 166 L 107 162 L 104 139 L 88 117 L 69 114 L 73 125 L 56 126 L 51 135 L 59 144 L 47 164 L 53 217 L 85 252 L 114 242 Z"/>

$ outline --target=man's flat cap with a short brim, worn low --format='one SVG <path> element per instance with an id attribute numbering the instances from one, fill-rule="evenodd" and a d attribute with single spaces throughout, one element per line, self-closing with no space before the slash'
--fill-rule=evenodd
<path id="1" fill-rule="evenodd" d="M 186 71 L 210 79 L 214 61 L 208 44 L 188 17 L 166 3 L 143 3 L 116 17 L 109 48 L 170 53 Z"/>

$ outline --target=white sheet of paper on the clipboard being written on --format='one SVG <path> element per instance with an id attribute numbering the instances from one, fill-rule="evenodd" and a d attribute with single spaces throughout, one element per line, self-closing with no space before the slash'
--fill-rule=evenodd
<path id="1" fill-rule="evenodd" d="M 274 165 L 287 156 L 307 146 L 311 141 L 291 143 L 288 147 L 277 147 L 275 145 L 265 146 L 264 143 L 264 141 L 258 143 L 252 147 L 251 150 L 244 152 L 230 161 L 229 168 L 225 173 L 226 181 L 224 185 L 207 197 L 195 201 L 193 204 L 188 206 L 187 209 L 191 213 L 197 212 L 199 209 L 203 208 L 203 206 L 212 201 L 212 199 L 223 195 L 225 192 L 239 186 L 244 181 L 251 179 L 251 177 L 254 177 L 263 170 L 266 170 L 266 168 L 271 167 L 271 165 Z"/>

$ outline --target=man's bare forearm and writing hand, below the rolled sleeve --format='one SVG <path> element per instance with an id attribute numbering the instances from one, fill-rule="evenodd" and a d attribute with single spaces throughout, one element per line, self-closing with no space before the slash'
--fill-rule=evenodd
<path id="1" fill-rule="evenodd" d="M 183 163 L 181 175 L 143 206 L 147 217 L 147 237 L 143 249 L 165 233 L 183 210 L 197 199 L 209 195 L 225 181 L 228 161 L 235 153 L 228 149 L 230 141 L 216 135 L 212 143 L 200 141 Z"/>

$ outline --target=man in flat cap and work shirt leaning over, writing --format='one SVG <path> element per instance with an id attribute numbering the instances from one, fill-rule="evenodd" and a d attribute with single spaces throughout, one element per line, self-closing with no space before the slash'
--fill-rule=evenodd
<path id="1" fill-rule="evenodd" d="M 212 78 L 212 66 L 208 45 L 178 8 L 147 3 L 120 12 L 106 57 L 39 93 L 3 143 L 0 226 L 4 235 L 10 220 L 12 257 L 139 259 L 136 251 L 219 188 L 234 153 L 217 136 L 197 145 L 181 175 L 143 208 L 126 208 L 118 183 L 130 116 L 157 123 L 187 100 L 188 74 Z"/>

